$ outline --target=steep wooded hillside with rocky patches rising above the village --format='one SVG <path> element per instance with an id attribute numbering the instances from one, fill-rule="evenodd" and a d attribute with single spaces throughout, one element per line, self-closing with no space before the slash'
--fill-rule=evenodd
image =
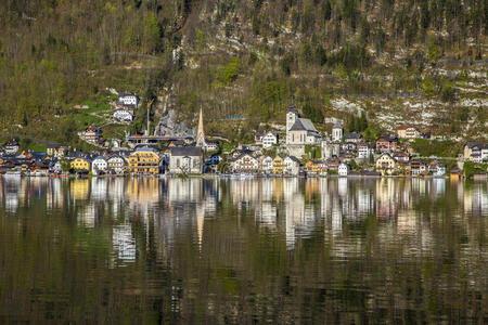
<path id="1" fill-rule="evenodd" d="M 449 102 L 455 80 L 423 74 L 485 60 L 487 31 L 483 0 L 7 0 L 0 123 L 73 141 L 84 123 L 73 105 L 106 88 L 144 103 L 169 93 L 187 119 L 203 105 L 210 117 L 268 120 L 291 101 L 320 119 L 337 93 Z M 141 109 L 133 129 L 144 118 Z"/>

